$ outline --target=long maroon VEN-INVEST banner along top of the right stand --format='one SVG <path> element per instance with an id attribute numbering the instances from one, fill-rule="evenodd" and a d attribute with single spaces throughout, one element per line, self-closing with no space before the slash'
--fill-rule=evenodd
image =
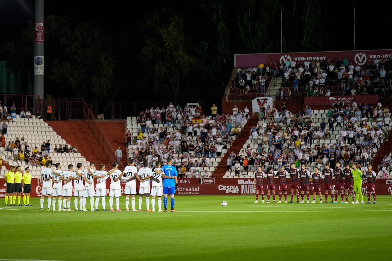
<path id="1" fill-rule="evenodd" d="M 295 61 L 296 66 L 303 65 L 303 62 L 307 59 L 308 61 L 322 61 L 327 60 L 328 57 L 333 63 L 338 61 L 340 58 L 342 61 L 344 57 L 347 57 L 348 62 L 352 62 L 355 66 L 357 63 L 360 66 L 366 65 L 366 63 L 373 64 L 375 59 L 384 57 L 388 62 L 388 59 L 392 57 L 392 49 L 386 50 L 362 50 L 362 51 L 336 51 L 336 52 L 290 52 L 290 53 L 272 53 L 272 54 L 235 54 L 234 55 L 234 66 L 253 67 L 260 63 L 269 64 L 270 60 L 278 63 L 285 63 L 285 61 Z"/>

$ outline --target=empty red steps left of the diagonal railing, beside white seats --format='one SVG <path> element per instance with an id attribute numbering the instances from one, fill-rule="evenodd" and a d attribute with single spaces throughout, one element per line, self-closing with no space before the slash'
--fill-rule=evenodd
<path id="1" fill-rule="evenodd" d="M 87 124 L 83 121 L 47 121 L 62 139 L 72 146 L 76 146 L 80 154 L 89 162 L 94 162 L 96 166 L 105 164 L 111 168 L 112 162 L 108 162 L 100 146 L 89 131 Z M 109 167 L 108 167 L 109 166 Z"/>

